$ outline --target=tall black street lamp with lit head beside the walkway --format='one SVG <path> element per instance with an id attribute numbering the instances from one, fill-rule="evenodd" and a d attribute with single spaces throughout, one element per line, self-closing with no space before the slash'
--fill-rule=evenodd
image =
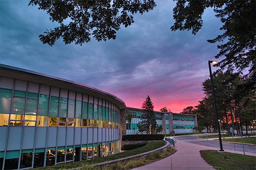
<path id="1" fill-rule="evenodd" d="M 220 142 L 220 148 L 221 148 L 220 151 L 224 151 L 222 147 L 222 141 L 221 141 L 221 129 L 220 129 L 220 125 L 218 124 L 218 111 L 217 111 L 215 91 L 214 91 L 213 80 L 212 80 L 212 69 L 211 69 L 211 64 L 213 64 L 214 66 L 217 63 L 218 63 L 217 61 L 208 61 L 211 84 L 212 84 L 212 97 L 213 97 L 213 104 L 214 104 L 214 111 L 215 111 L 215 119 L 216 119 L 216 124 L 218 128 L 218 136 L 219 136 L 219 142 Z"/>

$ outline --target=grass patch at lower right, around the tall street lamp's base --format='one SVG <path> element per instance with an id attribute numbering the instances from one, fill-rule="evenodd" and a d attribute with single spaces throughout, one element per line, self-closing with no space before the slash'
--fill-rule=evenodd
<path id="1" fill-rule="evenodd" d="M 256 157 L 237 153 L 200 150 L 201 157 L 217 170 L 256 170 Z"/>

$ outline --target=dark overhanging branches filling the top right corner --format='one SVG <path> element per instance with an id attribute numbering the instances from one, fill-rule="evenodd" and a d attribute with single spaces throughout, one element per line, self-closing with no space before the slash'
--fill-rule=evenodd
<path id="1" fill-rule="evenodd" d="M 256 1 L 255 0 L 177 0 L 173 9 L 174 25 L 172 31 L 192 30 L 196 34 L 203 26 L 202 15 L 206 8 L 213 8 L 220 18 L 223 34 L 210 43 L 225 42 L 217 45 L 220 49 L 216 59 L 221 70 L 241 73 L 249 70 L 248 88 L 255 88 L 256 79 Z"/>

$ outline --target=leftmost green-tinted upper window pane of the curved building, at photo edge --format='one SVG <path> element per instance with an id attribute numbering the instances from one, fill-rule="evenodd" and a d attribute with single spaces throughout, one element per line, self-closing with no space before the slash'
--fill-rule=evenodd
<path id="1" fill-rule="evenodd" d="M 12 90 L 0 89 L 0 113 L 9 113 L 11 107 Z"/>

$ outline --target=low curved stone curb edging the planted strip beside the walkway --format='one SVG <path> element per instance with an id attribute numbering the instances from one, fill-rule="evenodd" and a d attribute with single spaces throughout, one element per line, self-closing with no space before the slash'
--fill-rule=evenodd
<path id="1" fill-rule="evenodd" d="M 114 159 L 114 160 L 111 160 L 111 161 L 100 162 L 100 163 L 92 164 L 92 165 L 93 166 L 103 166 L 105 164 L 113 164 L 117 161 L 125 161 L 125 160 L 128 160 L 128 159 L 134 159 L 134 158 L 137 158 L 137 157 L 140 157 L 140 156 L 146 156 L 149 153 L 153 153 L 153 152 L 156 152 L 156 151 L 159 151 L 159 150 L 164 150 L 164 149 L 168 148 L 169 146 L 172 147 L 172 145 L 168 141 L 166 141 L 166 140 L 163 140 L 163 141 L 166 142 L 166 144 L 163 145 L 162 147 L 157 148 L 157 149 L 150 150 L 148 152 L 140 153 L 140 154 L 133 155 L 133 156 L 127 156 L 127 157 L 124 157 L 124 158 L 119 158 L 119 159 Z M 80 170 L 80 169 L 81 169 L 81 167 L 75 167 L 75 168 L 72 168 L 70 170 Z"/>

